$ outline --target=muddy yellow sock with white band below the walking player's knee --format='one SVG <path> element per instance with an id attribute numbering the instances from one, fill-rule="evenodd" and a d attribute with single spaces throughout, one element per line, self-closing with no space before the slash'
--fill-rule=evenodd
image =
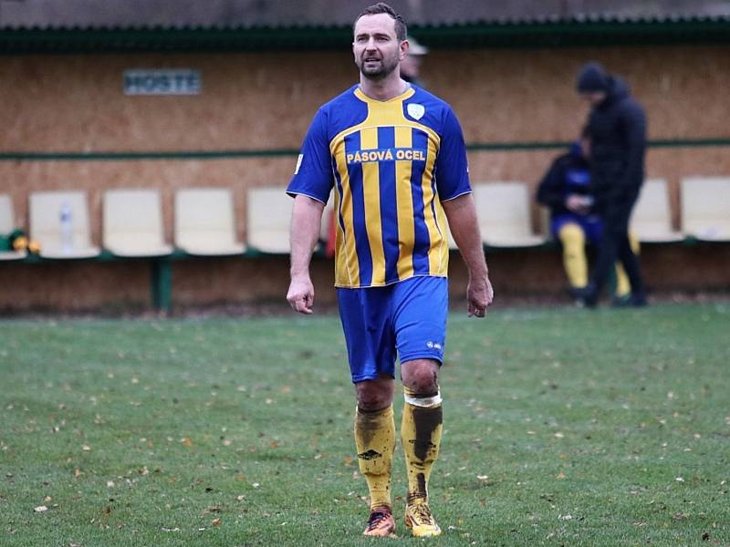
<path id="1" fill-rule="evenodd" d="M 428 501 L 428 480 L 441 445 L 441 394 L 419 395 L 407 387 L 404 393 L 401 442 L 408 472 L 408 502 Z"/>

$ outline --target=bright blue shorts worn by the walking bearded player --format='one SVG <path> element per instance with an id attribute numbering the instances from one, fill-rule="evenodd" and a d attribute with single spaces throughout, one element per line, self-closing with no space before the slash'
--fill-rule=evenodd
<path id="1" fill-rule="evenodd" d="M 352 382 L 395 377 L 413 359 L 443 363 L 449 284 L 445 277 L 411 277 L 384 287 L 338 289 L 339 318 Z"/>

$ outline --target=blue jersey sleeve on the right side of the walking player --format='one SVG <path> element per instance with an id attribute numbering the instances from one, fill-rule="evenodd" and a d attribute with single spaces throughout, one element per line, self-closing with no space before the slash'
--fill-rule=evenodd
<path id="1" fill-rule="evenodd" d="M 441 146 L 436 158 L 436 190 L 441 201 L 470 193 L 464 133 L 454 111 L 447 108 L 443 119 Z"/>

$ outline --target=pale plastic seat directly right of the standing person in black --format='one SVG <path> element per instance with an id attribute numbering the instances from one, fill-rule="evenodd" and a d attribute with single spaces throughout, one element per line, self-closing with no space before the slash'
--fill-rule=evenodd
<path id="1" fill-rule="evenodd" d="M 682 232 L 672 228 L 667 181 L 644 181 L 639 200 L 631 215 L 631 232 L 641 243 L 671 243 L 684 239 Z"/>

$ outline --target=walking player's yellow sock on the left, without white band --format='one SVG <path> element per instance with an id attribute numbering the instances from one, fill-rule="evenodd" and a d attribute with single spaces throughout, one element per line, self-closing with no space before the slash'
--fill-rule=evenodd
<path id="1" fill-rule="evenodd" d="M 395 449 L 392 405 L 373 412 L 355 411 L 355 444 L 360 473 L 368 481 L 370 509 L 391 505 L 391 468 Z"/>

